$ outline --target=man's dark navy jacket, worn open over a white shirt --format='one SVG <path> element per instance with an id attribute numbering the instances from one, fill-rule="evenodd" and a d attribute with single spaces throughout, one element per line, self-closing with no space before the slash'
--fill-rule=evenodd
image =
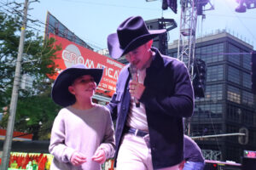
<path id="1" fill-rule="evenodd" d="M 157 169 L 183 161 L 183 117 L 192 116 L 194 93 L 183 62 L 160 54 L 156 48 L 152 50 L 155 55 L 146 70 L 145 90 L 139 101 L 145 105 L 152 163 Z M 116 93 L 107 105 L 113 117 L 117 117 L 115 158 L 129 113 L 129 66 L 125 65 L 120 71 Z"/>

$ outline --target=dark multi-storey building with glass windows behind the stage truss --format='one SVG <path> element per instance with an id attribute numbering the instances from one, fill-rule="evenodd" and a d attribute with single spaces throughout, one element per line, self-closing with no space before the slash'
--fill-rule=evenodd
<path id="1" fill-rule="evenodd" d="M 252 49 L 230 37 L 196 44 L 195 58 L 207 64 L 207 82 L 205 97 L 195 99 L 190 136 L 239 133 L 241 127 L 248 127 L 250 145 L 242 149 L 250 146 L 256 150 L 256 105 L 251 92 L 252 55 L 249 54 Z M 172 50 L 172 56 L 177 58 L 177 51 Z M 224 160 L 241 161 L 237 136 L 219 138 L 223 145 L 216 140 L 207 138 L 196 142 L 203 150 L 220 150 Z"/>

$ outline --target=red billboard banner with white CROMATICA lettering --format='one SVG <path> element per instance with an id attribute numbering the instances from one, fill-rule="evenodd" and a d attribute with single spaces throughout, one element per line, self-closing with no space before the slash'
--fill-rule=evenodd
<path id="1" fill-rule="evenodd" d="M 56 68 L 57 74 L 50 78 L 55 79 L 61 71 L 75 64 L 84 64 L 87 68 L 104 68 L 102 81 L 98 85 L 96 93 L 105 94 L 109 97 L 113 95 L 119 71 L 124 67 L 122 63 L 81 47 L 65 38 L 53 34 L 50 34 L 49 37 L 54 37 L 55 44 L 61 44 L 62 48 L 56 54 L 58 59 L 55 59 L 55 64 L 58 65 L 58 68 Z"/>

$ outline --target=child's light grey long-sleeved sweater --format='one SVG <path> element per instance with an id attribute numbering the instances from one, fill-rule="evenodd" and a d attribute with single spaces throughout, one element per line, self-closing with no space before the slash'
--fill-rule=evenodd
<path id="1" fill-rule="evenodd" d="M 61 109 L 51 130 L 49 153 L 54 156 L 50 169 L 99 170 L 101 165 L 91 161 L 96 150 L 102 149 L 107 159 L 114 154 L 113 122 L 107 108 L 102 105 L 81 111 L 71 106 Z M 79 151 L 87 158 L 74 167 L 71 156 Z"/>

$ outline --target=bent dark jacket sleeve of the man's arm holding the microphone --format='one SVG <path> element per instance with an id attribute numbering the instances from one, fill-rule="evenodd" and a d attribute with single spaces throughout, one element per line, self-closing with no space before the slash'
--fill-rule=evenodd
<path id="1" fill-rule="evenodd" d="M 174 94 L 172 96 L 146 87 L 140 101 L 151 111 L 160 111 L 170 116 L 192 116 L 194 90 L 186 66 L 181 62 L 177 62 L 173 75 L 173 77 L 170 77 L 171 80 L 175 81 L 173 83 Z"/>

